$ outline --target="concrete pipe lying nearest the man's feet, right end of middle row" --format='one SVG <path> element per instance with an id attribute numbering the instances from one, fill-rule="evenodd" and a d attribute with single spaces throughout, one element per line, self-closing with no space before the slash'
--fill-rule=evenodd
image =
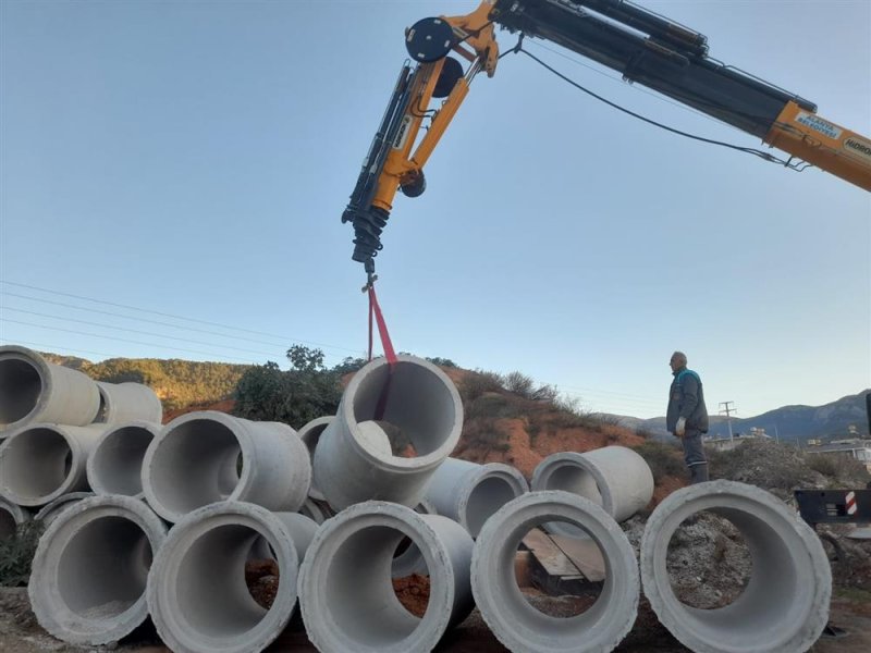
<path id="1" fill-rule="evenodd" d="M 643 509 L 653 496 L 653 473 L 636 452 L 605 446 L 578 454 L 562 452 L 544 458 L 532 473 L 532 492 L 562 490 L 589 498 L 617 521 Z M 566 525 L 547 525 L 551 532 L 577 535 Z"/>

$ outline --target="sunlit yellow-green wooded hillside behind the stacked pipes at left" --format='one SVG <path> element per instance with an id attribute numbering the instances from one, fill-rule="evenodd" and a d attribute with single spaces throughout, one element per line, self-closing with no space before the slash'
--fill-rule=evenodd
<path id="1" fill-rule="evenodd" d="M 41 353 L 46 360 L 77 369 L 96 381 L 134 381 L 151 387 L 165 410 L 226 399 L 250 366 L 157 358 L 84 358 Z"/>

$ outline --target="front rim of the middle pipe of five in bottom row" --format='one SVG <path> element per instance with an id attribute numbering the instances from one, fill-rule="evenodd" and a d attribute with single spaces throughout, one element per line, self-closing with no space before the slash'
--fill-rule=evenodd
<path id="1" fill-rule="evenodd" d="M 327 593 L 321 591 L 328 584 L 336 553 L 355 535 L 370 528 L 393 529 L 408 537 L 419 549 L 430 574 L 429 604 L 415 629 L 400 641 L 390 644 L 379 642 L 377 646 L 365 645 L 347 634 L 335 617 L 334 606 Z M 425 542 L 430 545 L 425 545 Z M 389 555 L 392 559 L 393 550 Z M 393 576 L 390 568 L 389 565 L 384 582 L 390 584 L 392 592 Z M 299 574 L 303 621 L 312 643 L 322 651 L 431 651 L 451 623 L 455 595 L 453 564 L 438 533 L 424 516 L 412 508 L 381 501 L 354 504 L 321 526 L 306 552 Z M 398 604 L 398 599 L 395 594 L 393 596 Z M 410 613 L 408 615 L 412 616 Z"/>

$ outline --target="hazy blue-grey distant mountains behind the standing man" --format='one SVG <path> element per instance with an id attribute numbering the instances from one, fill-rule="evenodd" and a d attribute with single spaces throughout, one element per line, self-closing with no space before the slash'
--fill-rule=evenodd
<path id="1" fill-rule="evenodd" d="M 869 436 L 866 396 L 871 390 L 842 397 L 824 406 L 784 406 L 762 415 L 748 418 L 733 418 L 733 434 L 749 434 L 750 429 L 763 429 L 766 435 L 783 441 L 805 442 L 809 439 L 836 440 Z M 638 419 L 637 417 L 615 416 L 628 428 L 647 431 L 658 440 L 671 438 L 665 430 L 665 418 Z M 728 421 L 720 415 L 710 417 L 709 434 L 714 438 L 728 438 Z M 855 434 L 851 431 L 855 430 Z"/>

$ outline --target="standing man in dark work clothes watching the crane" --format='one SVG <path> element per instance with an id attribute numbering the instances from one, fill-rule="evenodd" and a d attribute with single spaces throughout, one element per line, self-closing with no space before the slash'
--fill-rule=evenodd
<path id="1" fill-rule="evenodd" d="M 690 484 L 703 483 L 708 480 L 708 459 L 704 457 L 701 434 L 708 432 L 708 408 L 704 406 L 701 379 L 687 369 L 687 355 L 683 352 L 672 354 L 668 366 L 674 381 L 668 391 L 665 428 L 677 435 L 684 445 Z"/>

